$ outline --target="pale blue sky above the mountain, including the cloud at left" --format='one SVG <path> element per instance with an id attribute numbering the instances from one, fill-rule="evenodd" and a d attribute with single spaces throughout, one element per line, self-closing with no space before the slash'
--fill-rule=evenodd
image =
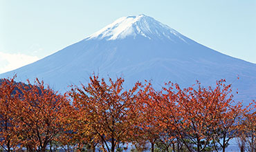
<path id="1" fill-rule="evenodd" d="M 51 55 L 119 17 L 139 14 L 256 63 L 256 0 L 0 0 L 0 73 Z"/>

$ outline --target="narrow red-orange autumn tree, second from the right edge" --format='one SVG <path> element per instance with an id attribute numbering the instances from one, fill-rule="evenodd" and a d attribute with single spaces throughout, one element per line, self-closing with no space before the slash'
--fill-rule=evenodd
<path id="1" fill-rule="evenodd" d="M 210 119 L 212 121 L 212 133 L 214 142 L 218 142 L 222 151 L 225 152 L 228 142 L 239 133 L 239 120 L 244 114 L 241 102 L 232 99 L 231 84 L 226 85 L 225 79 L 217 82 L 215 88 L 208 88 L 210 95 Z"/>

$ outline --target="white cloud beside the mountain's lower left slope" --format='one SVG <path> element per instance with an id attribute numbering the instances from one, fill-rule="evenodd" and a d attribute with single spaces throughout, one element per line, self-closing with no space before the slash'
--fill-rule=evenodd
<path id="1" fill-rule="evenodd" d="M 21 66 L 31 64 L 37 61 L 39 57 L 24 55 L 21 53 L 2 53 L 0 52 L 0 73 L 6 73 L 10 70 L 15 70 Z"/>

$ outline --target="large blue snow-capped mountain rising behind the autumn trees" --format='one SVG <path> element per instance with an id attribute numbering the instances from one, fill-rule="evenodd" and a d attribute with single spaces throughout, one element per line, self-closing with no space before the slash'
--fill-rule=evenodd
<path id="1" fill-rule="evenodd" d="M 62 93 L 68 85 L 88 82 L 92 73 L 122 76 L 127 87 L 144 79 L 156 88 L 169 81 L 185 87 L 196 80 L 214 86 L 216 80 L 226 79 L 238 89 L 236 99 L 256 98 L 256 64 L 198 44 L 146 15 L 121 17 L 76 44 L 0 77 L 14 73 L 24 82 L 43 79 Z"/>

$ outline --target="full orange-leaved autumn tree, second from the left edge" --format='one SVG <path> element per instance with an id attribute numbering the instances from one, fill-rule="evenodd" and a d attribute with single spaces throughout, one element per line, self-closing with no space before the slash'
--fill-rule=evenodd
<path id="1" fill-rule="evenodd" d="M 62 132 L 63 119 L 68 116 L 68 100 L 44 82 L 19 85 L 22 96 L 15 120 L 22 127 L 21 144 L 28 151 L 46 151 L 49 142 Z"/>

